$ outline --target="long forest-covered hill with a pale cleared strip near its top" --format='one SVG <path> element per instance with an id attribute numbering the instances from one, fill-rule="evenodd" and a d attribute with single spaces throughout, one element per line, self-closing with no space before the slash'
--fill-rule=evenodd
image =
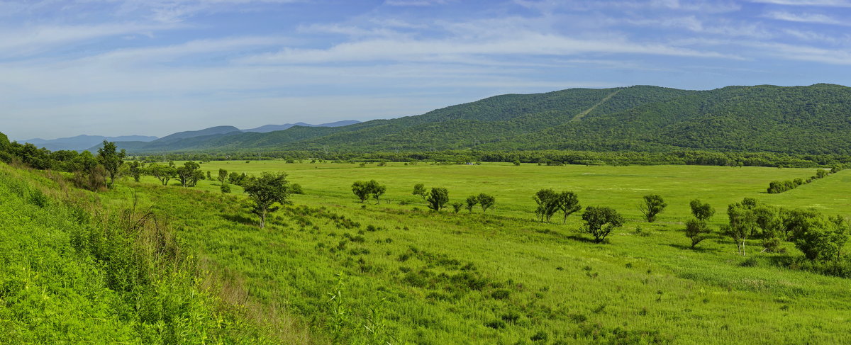
<path id="1" fill-rule="evenodd" d="M 848 154 L 851 88 L 831 84 L 707 91 L 653 86 L 571 88 L 500 95 L 420 116 L 344 127 L 221 133 L 127 149 L 140 153 L 694 149 Z"/>

